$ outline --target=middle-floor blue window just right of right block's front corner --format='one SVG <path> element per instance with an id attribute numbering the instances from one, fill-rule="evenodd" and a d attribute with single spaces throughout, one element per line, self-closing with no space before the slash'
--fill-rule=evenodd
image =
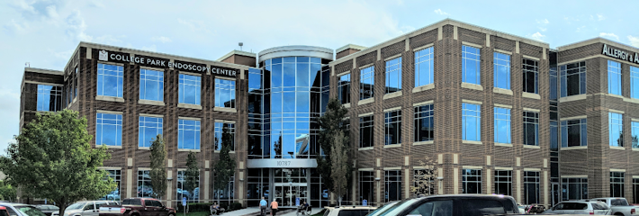
<path id="1" fill-rule="evenodd" d="M 482 140 L 482 105 L 473 103 L 462 104 L 462 139 L 471 141 Z"/>

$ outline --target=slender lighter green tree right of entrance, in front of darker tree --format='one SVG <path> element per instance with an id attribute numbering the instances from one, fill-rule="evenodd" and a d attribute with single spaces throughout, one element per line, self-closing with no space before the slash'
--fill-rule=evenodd
<path id="1" fill-rule="evenodd" d="M 344 131 L 338 130 L 333 139 L 333 146 L 330 149 L 330 164 L 333 166 L 330 177 L 333 179 L 333 193 L 338 195 L 339 206 L 342 205 L 342 197 L 347 192 L 347 174 L 350 172 L 348 168 L 349 150 L 344 145 L 346 143 L 348 143 L 348 138 L 344 136 Z"/>

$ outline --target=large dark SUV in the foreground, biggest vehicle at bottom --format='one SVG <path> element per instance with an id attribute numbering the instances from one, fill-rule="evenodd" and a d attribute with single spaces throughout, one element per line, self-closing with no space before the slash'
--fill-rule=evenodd
<path id="1" fill-rule="evenodd" d="M 458 194 L 433 195 L 398 202 L 380 216 L 481 216 L 518 214 L 517 202 L 511 196 Z"/>

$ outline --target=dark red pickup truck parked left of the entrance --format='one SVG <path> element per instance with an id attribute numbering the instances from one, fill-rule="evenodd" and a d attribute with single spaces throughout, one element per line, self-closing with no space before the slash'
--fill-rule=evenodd
<path id="1" fill-rule="evenodd" d="M 175 216 L 175 209 L 149 198 L 124 199 L 121 205 L 100 206 L 100 216 Z"/>

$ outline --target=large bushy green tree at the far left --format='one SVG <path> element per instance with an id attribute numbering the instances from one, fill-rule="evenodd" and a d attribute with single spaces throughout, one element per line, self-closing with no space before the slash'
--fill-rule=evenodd
<path id="1" fill-rule="evenodd" d="M 24 193 L 49 199 L 64 212 L 70 203 L 97 199 L 116 187 L 98 170 L 111 155 L 105 146 L 92 148 L 91 139 L 78 112 L 37 113 L 0 157 L 0 170 Z"/>

